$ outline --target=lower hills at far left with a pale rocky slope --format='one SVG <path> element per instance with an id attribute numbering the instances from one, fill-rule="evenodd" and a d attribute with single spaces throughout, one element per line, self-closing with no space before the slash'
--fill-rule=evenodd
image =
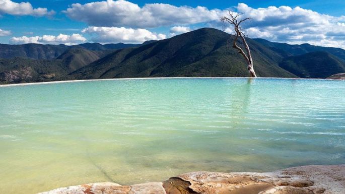
<path id="1" fill-rule="evenodd" d="M 0 59 L 0 83 L 68 80 L 68 74 L 108 54 L 82 47 L 67 49 L 56 59 L 13 57 Z"/>

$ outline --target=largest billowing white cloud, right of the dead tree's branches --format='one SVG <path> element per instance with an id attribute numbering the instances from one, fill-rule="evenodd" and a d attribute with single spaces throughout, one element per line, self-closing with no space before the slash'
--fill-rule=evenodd
<path id="1" fill-rule="evenodd" d="M 345 16 L 333 17 L 288 6 L 254 9 L 242 3 L 238 4 L 237 12 L 243 13 L 241 17 L 252 18 L 243 23 L 251 38 L 345 48 Z M 232 33 L 233 29 L 225 31 Z"/>

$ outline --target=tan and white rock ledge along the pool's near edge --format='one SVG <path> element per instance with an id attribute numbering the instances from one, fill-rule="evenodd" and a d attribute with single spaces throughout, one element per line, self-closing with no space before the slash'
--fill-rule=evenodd
<path id="1" fill-rule="evenodd" d="M 345 165 L 302 166 L 268 173 L 191 172 L 164 182 L 93 183 L 40 194 L 344 194 Z"/>

